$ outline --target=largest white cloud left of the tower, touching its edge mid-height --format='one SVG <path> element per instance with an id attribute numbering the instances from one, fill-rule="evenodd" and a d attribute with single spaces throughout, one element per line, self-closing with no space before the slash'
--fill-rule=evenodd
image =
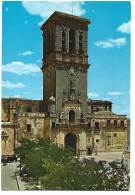
<path id="1" fill-rule="evenodd" d="M 10 64 L 2 65 L 2 71 L 11 72 L 17 75 L 28 75 L 30 73 L 41 72 L 36 64 L 23 62 L 11 62 Z"/>

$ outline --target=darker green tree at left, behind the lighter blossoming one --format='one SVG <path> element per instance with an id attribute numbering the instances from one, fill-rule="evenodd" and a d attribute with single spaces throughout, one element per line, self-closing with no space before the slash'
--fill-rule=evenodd
<path id="1" fill-rule="evenodd" d="M 24 138 L 20 143 L 15 154 L 20 157 L 20 163 L 25 165 L 28 174 L 37 179 L 47 172 L 47 168 L 43 166 L 45 159 L 51 159 L 55 164 L 59 161 L 66 163 L 73 156 L 71 148 L 59 148 L 48 137 L 38 138 L 37 142 Z"/>

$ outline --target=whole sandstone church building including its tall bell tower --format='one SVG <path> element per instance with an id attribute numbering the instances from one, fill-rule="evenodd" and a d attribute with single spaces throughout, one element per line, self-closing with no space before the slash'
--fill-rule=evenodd
<path id="1" fill-rule="evenodd" d="M 2 155 L 19 140 L 49 136 L 76 154 L 125 150 L 127 117 L 112 102 L 87 97 L 88 19 L 54 12 L 43 31 L 43 100 L 2 99 Z"/>

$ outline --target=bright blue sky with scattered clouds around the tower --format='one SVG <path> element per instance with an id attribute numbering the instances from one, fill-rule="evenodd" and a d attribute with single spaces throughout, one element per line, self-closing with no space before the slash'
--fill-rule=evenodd
<path id="1" fill-rule="evenodd" d="M 77 1 L 73 13 L 90 19 L 88 97 L 113 102 L 130 116 L 130 2 Z M 3 1 L 2 97 L 42 99 L 42 31 L 54 11 L 72 13 L 72 2 Z"/>

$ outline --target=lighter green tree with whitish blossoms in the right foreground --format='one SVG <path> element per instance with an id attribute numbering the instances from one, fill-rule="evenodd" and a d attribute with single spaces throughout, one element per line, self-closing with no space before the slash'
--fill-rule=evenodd
<path id="1" fill-rule="evenodd" d="M 105 170 L 93 161 L 74 159 L 67 164 L 55 164 L 44 160 L 43 166 L 47 169 L 41 178 L 45 190 L 128 190 L 126 172 Z"/>

